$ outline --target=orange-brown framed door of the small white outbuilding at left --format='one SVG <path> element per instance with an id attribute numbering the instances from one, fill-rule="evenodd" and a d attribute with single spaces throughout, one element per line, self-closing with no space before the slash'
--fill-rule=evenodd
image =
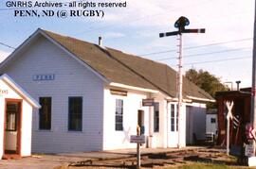
<path id="1" fill-rule="evenodd" d="M 21 100 L 6 100 L 4 153 L 20 154 Z"/>

